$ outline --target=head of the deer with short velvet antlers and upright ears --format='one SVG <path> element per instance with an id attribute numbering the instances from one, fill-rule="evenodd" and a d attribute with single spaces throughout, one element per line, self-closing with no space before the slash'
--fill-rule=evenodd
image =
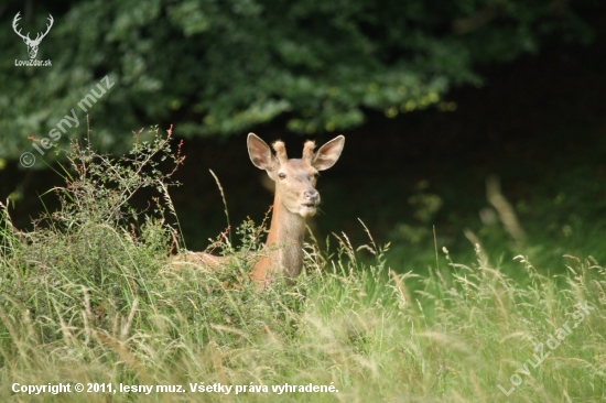
<path id="1" fill-rule="evenodd" d="M 281 141 L 272 144 L 275 154 L 253 133 L 248 134 L 247 144 L 252 164 L 267 171 L 275 182 L 275 202 L 290 213 L 307 218 L 315 215 L 320 204 L 320 193 L 315 189 L 318 171 L 328 170 L 337 162 L 345 137 L 336 137 L 316 152 L 315 143 L 307 141 L 303 145 L 303 157 L 290 160 Z"/>

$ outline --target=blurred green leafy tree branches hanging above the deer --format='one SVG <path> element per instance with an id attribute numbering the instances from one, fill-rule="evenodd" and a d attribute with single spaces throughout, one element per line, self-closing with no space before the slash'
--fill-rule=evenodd
<path id="1" fill-rule="evenodd" d="M 32 3 L 29 3 L 32 4 Z M 453 85 L 480 84 L 479 63 L 535 52 L 558 31 L 591 31 L 565 1 L 169 1 L 93 0 L 0 11 L 0 157 L 85 109 L 95 143 L 120 150 L 129 129 L 176 123 L 178 134 L 231 134 L 284 117 L 290 130 L 313 134 L 360 124 L 364 109 L 400 112 L 435 106 Z M 40 44 L 50 67 L 28 59 L 10 26 L 54 25 Z M 15 62 L 17 63 L 17 62 Z M 88 108 L 78 104 L 102 77 L 112 86 Z M 99 89 L 96 89 L 99 92 Z M 64 126 L 65 127 L 65 126 Z M 69 128 L 58 142 L 83 131 Z"/>

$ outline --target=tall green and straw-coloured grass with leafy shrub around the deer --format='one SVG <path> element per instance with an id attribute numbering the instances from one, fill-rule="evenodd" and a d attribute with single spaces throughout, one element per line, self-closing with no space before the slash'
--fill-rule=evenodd
<path id="1" fill-rule="evenodd" d="M 479 247 L 477 261 L 464 263 L 444 249 L 420 275 L 388 268 L 388 247 L 369 239 L 356 248 L 339 235 L 332 252 L 307 246 L 294 286 L 258 291 L 247 273 L 263 229 L 251 221 L 237 232 L 239 247 L 226 237 L 213 246 L 230 257 L 223 270 L 171 264 L 169 252 L 184 247 L 169 226 L 170 174 L 160 163 L 178 165 L 180 156 L 170 133 L 153 134 L 119 160 L 76 144 L 66 186 L 51 192 L 62 208 L 32 232 L 13 228 L 1 205 L 0 401 L 606 399 L 606 272 L 598 262 L 565 257 L 566 274 L 547 276 L 521 255 L 496 266 Z M 136 210 L 130 197 L 148 187 L 154 207 Z M 361 259 L 368 253 L 372 260 Z M 550 335 L 562 338 L 553 350 Z M 540 344 L 550 353 L 538 363 Z M 76 382 L 85 392 L 12 392 L 14 383 Z M 86 393 L 88 383 L 185 392 Z M 234 389 L 199 392 L 218 383 Z M 286 383 L 296 391 L 272 391 Z M 297 389 L 310 384 L 334 391 Z"/>

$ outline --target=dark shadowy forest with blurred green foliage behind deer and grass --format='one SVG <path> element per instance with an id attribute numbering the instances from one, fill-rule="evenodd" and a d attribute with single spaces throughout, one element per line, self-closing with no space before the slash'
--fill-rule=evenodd
<path id="1" fill-rule="evenodd" d="M 192 250 L 226 227 L 209 168 L 231 224 L 259 222 L 270 206 L 247 155 L 253 131 L 284 140 L 291 156 L 307 138 L 345 134 L 312 228 L 359 244 L 359 218 L 391 242 L 399 270 L 435 247 L 470 254 L 478 240 L 497 259 L 527 253 L 544 265 L 563 253 L 606 258 L 604 2 L 128 3 L 0 8 L 0 199 L 11 199 L 19 228 L 54 208 L 52 194 L 40 195 L 62 185 L 47 167 L 57 168 L 54 154 L 20 165 L 28 138 L 45 137 L 109 75 L 116 89 L 90 108 L 93 145 L 120 153 L 131 130 L 174 124 L 187 157 L 172 195 Z M 14 66 L 28 58 L 11 28 L 18 11 L 24 32 L 53 14 L 37 56 L 53 67 Z M 85 134 L 72 129 L 59 149 Z M 487 199 L 491 177 L 523 238 Z"/>

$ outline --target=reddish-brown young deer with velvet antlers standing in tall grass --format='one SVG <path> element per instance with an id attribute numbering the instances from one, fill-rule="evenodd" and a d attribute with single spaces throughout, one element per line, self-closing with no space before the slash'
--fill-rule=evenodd
<path id="1" fill-rule="evenodd" d="M 270 285 L 277 276 L 293 284 L 301 273 L 305 222 L 315 216 L 320 205 L 320 193 L 315 188 L 318 172 L 337 162 L 344 145 L 345 137 L 338 135 L 314 151 L 315 142 L 309 140 L 303 145 L 301 159 L 289 159 L 284 142 L 273 142 L 273 153 L 257 134 L 248 134 L 247 148 L 252 165 L 266 171 L 275 182 L 272 216 L 263 247 L 266 253 L 257 259 L 250 273 L 250 280 L 259 287 Z M 184 259 L 213 270 L 228 260 L 205 252 L 191 252 Z"/>

